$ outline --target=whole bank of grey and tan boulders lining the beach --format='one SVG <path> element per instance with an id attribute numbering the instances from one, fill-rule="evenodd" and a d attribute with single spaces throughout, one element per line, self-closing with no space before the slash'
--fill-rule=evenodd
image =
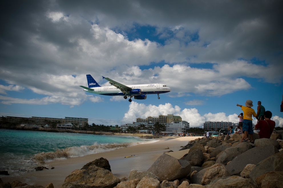
<path id="1" fill-rule="evenodd" d="M 65 178 L 65 187 L 283 187 L 283 131 L 274 131 L 270 139 L 242 142 L 240 135 L 199 138 L 189 141 L 189 149 L 180 159 L 165 151 L 147 171 L 132 170 L 119 179 L 111 173 L 107 159 L 96 159 L 74 170 Z M 14 181 L 1 187 L 43 187 Z M 46 188 L 54 187 L 52 183 Z"/>

